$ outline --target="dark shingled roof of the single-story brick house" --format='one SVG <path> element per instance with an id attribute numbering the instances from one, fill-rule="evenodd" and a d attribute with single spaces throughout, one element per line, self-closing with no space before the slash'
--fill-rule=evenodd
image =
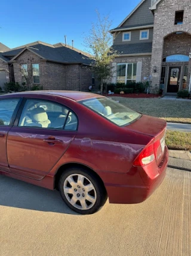
<path id="1" fill-rule="evenodd" d="M 68 46 L 64 46 L 62 43 L 56 45 L 42 43 L 37 41 L 35 43 L 26 44 L 21 47 L 17 47 L 10 51 L 4 52 L 4 58 L 11 59 L 19 55 L 23 50 L 29 49 L 31 52 L 36 53 L 42 59 L 52 62 L 59 62 L 63 64 L 86 64 L 90 65 L 93 61 L 88 57 L 88 54 L 85 55 L 84 52 L 81 52 L 78 49 L 71 49 Z"/>

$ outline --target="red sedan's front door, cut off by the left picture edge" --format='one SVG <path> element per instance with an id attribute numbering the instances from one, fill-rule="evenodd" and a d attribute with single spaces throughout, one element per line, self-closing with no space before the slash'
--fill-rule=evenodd
<path id="1" fill-rule="evenodd" d="M 14 122 L 19 98 L 0 100 L 0 170 L 10 171 L 7 161 L 7 134 Z"/>

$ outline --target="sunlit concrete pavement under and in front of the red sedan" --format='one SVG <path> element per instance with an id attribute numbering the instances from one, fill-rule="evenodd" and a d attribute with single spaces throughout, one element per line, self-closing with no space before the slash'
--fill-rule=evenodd
<path id="1" fill-rule="evenodd" d="M 191 255 L 191 172 L 168 169 L 136 205 L 70 211 L 57 191 L 0 176 L 0 255 Z"/>

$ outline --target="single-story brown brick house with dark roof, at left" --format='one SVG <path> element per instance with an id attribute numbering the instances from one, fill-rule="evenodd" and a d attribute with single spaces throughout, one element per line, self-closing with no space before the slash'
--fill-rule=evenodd
<path id="1" fill-rule="evenodd" d="M 30 87 L 41 85 L 45 90 L 87 91 L 94 83 L 89 57 L 62 43 L 37 41 L 14 49 L 5 47 L 0 52 L 0 68 L 9 72 L 6 81 L 0 76 L 0 86 L 3 82 L 27 82 Z"/>

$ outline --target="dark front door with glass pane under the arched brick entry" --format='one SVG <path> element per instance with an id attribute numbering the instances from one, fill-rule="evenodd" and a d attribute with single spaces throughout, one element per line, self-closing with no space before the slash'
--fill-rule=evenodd
<path id="1" fill-rule="evenodd" d="M 181 67 L 170 67 L 167 92 L 177 93 L 180 85 Z"/>

